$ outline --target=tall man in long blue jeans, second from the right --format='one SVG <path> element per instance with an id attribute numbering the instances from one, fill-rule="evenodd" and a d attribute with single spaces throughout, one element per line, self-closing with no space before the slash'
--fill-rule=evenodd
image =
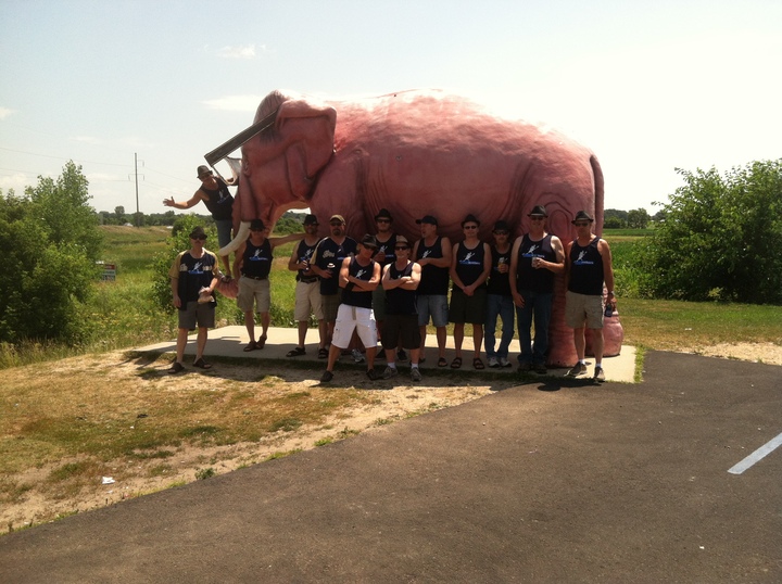
<path id="1" fill-rule="evenodd" d="M 529 233 L 516 238 L 510 252 L 510 293 L 516 305 L 521 354 L 519 371 L 546 373 L 548 325 L 554 301 L 554 278 L 565 274 L 565 250 L 556 236 L 546 232 L 548 214 L 535 205 Z M 531 327 L 534 320 L 534 345 Z"/>

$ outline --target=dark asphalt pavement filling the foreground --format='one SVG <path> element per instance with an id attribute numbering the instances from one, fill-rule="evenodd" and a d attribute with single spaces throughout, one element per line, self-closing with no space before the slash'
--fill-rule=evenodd
<path id="1" fill-rule="evenodd" d="M 0 581 L 780 582 L 781 372 L 533 380 L 1 536 Z"/>

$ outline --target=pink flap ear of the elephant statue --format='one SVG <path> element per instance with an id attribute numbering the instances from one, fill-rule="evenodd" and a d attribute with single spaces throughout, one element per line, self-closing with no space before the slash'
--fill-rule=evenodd
<path id="1" fill-rule="evenodd" d="M 290 100 L 280 105 L 275 125 L 277 136 L 286 144 L 291 189 L 297 196 L 308 199 L 315 177 L 333 155 L 337 111 Z"/>

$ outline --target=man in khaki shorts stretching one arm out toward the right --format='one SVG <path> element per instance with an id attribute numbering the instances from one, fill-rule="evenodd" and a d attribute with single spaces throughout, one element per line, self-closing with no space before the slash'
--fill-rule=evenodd
<path id="1" fill-rule="evenodd" d="M 250 223 L 250 237 L 239 245 L 234 259 L 234 277 L 239 280 L 237 306 L 244 313 L 244 326 L 250 337 L 250 344 L 244 347 L 244 351 L 263 348 L 266 344 L 266 333 L 270 321 L 272 299 L 268 277 L 272 271 L 273 251 L 277 245 L 299 239 L 298 233 L 272 239 L 267 238 L 267 234 L 268 230 L 263 221 L 253 219 Z M 254 306 L 257 306 L 261 327 L 263 327 L 263 332 L 257 341 L 255 340 Z"/>

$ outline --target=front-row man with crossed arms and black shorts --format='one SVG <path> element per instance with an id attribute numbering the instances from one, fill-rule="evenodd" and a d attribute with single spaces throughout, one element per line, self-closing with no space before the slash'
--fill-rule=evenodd
<path id="1" fill-rule="evenodd" d="M 420 381 L 420 329 L 416 289 L 420 283 L 420 266 L 409 261 L 407 238 L 396 236 L 394 262 L 383 268 L 382 287 L 386 290 L 386 320 L 382 327 L 382 345 L 388 366 L 383 379 L 396 374 L 396 347 L 411 352 L 411 379 Z M 402 360 L 402 359 L 400 359 Z"/>

